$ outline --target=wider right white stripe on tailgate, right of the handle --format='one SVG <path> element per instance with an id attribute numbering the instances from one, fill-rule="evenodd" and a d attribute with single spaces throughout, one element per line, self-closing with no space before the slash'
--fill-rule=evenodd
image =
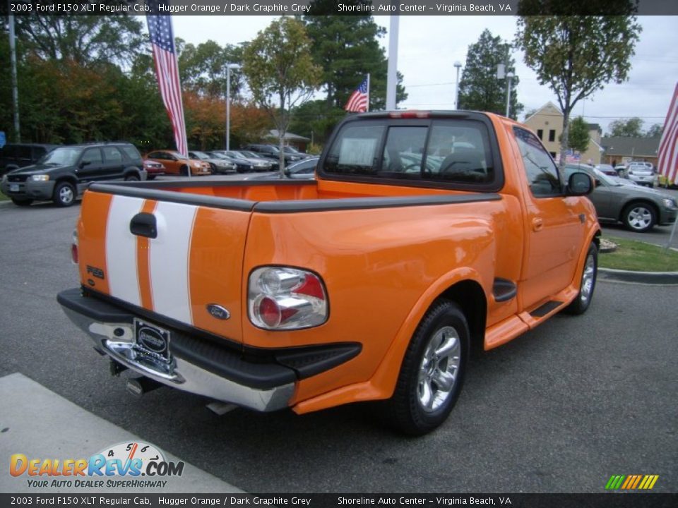
<path id="1" fill-rule="evenodd" d="M 193 324 L 189 249 L 198 207 L 158 202 L 153 215 L 157 238 L 150 241 L 150 287 L 155 312 Z"/>

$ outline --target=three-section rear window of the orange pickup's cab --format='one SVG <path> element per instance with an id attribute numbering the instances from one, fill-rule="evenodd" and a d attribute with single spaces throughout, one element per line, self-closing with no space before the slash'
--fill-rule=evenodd
<path id="1" fill-rule="evenodd" d="M 346 123 L 325 159 L 328 176 L 496 187 L 497 169 L 482 121 Z"/>

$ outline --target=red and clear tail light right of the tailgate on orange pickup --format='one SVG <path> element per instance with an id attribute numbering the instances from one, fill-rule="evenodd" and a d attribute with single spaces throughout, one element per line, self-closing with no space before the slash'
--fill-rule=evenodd
<path id="1" fill-rule="evenodd" d="M 300 329 L 322 325 L 328 317 L 321 278 L 307 270 L 261 267 L 249 276 L 249 320 L 263 329 Z"/>

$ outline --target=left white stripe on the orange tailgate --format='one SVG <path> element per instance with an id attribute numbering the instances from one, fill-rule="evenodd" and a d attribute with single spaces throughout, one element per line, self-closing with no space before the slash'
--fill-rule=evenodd
<path id="1" fill-rule="evenodd" d="M 111 296 L 141 306 L 136 268 L 136 236 L 129 231 L 143 200 L 113 196 L 106 223 L 106 267 Z"/>

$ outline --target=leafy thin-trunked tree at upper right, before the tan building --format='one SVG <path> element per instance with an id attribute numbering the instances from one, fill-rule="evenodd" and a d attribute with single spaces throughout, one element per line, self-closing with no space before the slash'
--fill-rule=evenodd
<path id="1" fill-rule="evenodd" d="M 531 9 L 538 4 L 539 11 Z M 634 4 L 617 1 L 616 12 L 626 16 L 575 16 L 580 2 L 523 0 L 518 6 L 516 45 L 525 63 L 537 73 L 540 84 L 555 92 L 563 111 L 560 164 L 565 164 L 569 146 L 570 114 L 575 104 L 602 90 L 609 82 L 628 78 L 641 26 L 636 23 Z M 602 9 L 605 1 L 591 1 L 590 9 Z M 540 13 L 542 16 L 530 16 Z M 556 16 L 549 16 L 558 13 Z M 564 14 L 563 14 L 564 13 Z M 571 14 L 571 15 L 568 15 Z"/>

